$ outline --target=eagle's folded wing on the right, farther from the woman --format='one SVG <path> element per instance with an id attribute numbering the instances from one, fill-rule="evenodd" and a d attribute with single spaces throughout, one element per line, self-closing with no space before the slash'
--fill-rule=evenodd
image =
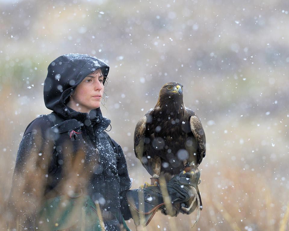
<path id="1" fill-rule="evenodd" d="M 197 140 L 197 165 L 199 165 L 206 156 L 206 136 L 200 121 L 200 118 L 190 109 L 187 109 L 190 116 L 190 128 Z"/>

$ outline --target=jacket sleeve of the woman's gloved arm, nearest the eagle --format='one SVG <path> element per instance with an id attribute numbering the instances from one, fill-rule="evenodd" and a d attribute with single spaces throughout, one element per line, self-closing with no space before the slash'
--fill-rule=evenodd
<path id="1" fill-rule="evenodd" d="M 120 161 L 117 164 L 117 171 L 120 177 L 120 211 L 123 214 L 123 218 L 125 220 L 129 220 L 132 215 L 129 210 L 129 205 L 126 199 L 126 192 L 132 186 L 132 183 L 129 178 L 129 173 L 127 170 L 126 158 L 123 154 L 123 150 L 118 145 L 119 152 L 120 152 Z"/>

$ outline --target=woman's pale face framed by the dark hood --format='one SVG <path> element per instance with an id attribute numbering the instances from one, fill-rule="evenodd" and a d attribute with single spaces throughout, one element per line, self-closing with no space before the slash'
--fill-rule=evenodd
<path id="1" fill-rule="evenodd" d="M 89 113 L 100 106 L 103 88 L 103 75 L 96 70 L 75 88 L 67 105 L 78 112 Z"/>

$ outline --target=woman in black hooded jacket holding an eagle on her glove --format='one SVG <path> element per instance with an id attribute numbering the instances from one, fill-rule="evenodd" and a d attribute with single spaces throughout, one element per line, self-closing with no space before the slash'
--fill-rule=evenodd
<path id="1" fill-rule="evenodd" d="M 128 230 L 124 219 L 146 225 L 164 208 L 158 185 L 129 190 L 123 151 L 104 131 L 110 120 L 102 116 L 100 104 L 108 71 L 104 61 L 84 54 L 63 55 L 48 66 L 44 101 L 53 113 L 33 120 L 20 143 L 10 228 Z M 190 199 L 198 178 L 190 173 L 172 178 L 169 199 Z M 88 216 L 79 213 L 84 210 Z"/>

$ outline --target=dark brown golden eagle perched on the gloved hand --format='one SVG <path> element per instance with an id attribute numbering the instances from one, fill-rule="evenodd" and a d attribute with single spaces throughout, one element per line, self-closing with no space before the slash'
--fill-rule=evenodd
<path id="1" fill-rule="evenodd" d="M 156 106 L 136 125 L 135 155 L 152 178 L 168 181 L 180 171 L 195 171 L 206 155 L 204 129 L 185 107 L 182 88 L 178 82 L 163 85 Z"/>

